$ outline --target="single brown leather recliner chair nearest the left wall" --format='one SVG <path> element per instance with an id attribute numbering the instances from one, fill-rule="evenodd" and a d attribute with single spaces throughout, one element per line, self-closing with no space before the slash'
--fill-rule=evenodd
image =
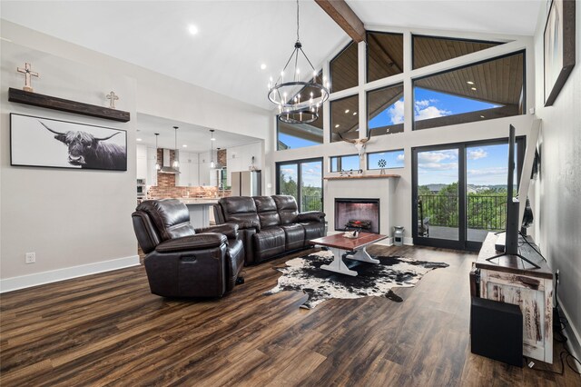
<path id="1" fill-rule="evenodd" d="M 144 201 L 132 218 L 153 294 L 222 297 L 234 287 L 244 264 L 238 225 L 194 229 L 175 199 Z"/>

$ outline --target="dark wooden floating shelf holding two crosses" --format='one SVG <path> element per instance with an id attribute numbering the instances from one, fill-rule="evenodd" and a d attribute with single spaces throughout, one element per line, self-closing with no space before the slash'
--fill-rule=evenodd
<path id="1" fill-rule="evenodd" d="M 109 107 L 97 106 L 96 104 L 84 104 L 82 102 L 71 101 L 51 95 L 25 92 L 10 87 L 8 89 L 8 101 L 20 104 L 31 104 L 46 109 L 60 110 L 61 112 L 90 115 L 92 117 L 104 118 L 107 120 L 126 123 L 130 120 L 129 112 L 111 109 Z"/>

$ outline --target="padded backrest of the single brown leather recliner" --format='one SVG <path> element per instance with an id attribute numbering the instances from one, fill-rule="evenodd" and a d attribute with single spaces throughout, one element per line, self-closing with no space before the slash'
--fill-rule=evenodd
<path id="1" fill-rule="evenodd" d="M 146 200 L 136 211 L 147 213 L 162 237 L 162 241 L 195 234 L 188 207 L 177 199 Z"/>

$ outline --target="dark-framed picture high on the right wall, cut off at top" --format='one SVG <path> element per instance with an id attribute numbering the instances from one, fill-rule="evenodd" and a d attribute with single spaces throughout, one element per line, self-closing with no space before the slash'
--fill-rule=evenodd
<path id="1" fill-rule="evenodd" d="M 575 1 L 552 0 L 544 33 L 545 106 L 556 100 L 575 66 Z"/>

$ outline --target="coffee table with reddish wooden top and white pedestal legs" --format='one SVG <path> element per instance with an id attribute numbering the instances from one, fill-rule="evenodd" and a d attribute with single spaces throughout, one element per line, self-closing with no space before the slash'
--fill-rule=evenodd
<path id="1" fill-rule="evenodd" d="M 343 236 L 343 233 L 337 233 L 335 235 L 311 239 L 309 243 L 327 246 L 334 255 L 333 262 L 330 264 L 323 264 L 320 266 L 321 269 L 356 276 L 357 272 L 350 270 L 350 268 L 343 262 L 343 254 L 347 252 L 355 252 L 347 255 L 347 258 L 361 262 L 379 263 L 379 260 L 371 258 L 365 248 L 369 244 L 379 242 L 387 237 L 387 235 L 380 235 L 379 233 L 359 233 L 357 238 L 347 238 Z"/>

